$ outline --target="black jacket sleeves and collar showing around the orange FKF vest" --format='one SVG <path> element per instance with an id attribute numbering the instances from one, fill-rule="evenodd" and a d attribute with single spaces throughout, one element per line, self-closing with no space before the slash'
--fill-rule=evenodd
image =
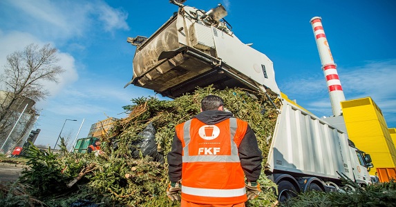
<path id="1" fill-rule="evenodd" d="M 208 125 L 214 125 L 232 117 L 231 112 L 220 110 L 207 110 L 195 116 L 198 120 Z M 261 173 L 261 161 L 263 157 L 258 148 L 256 135 L 250 126 L 247 126 L 245 137 L 243 137 L 238 148 L 239 159 L 245 177 L 250 181 L 256 181 Z M 182 142 L 175 133 L 173 137 L 172 150 L 168 153 L 169 179 L 176 182 L 182 179 Z"/>

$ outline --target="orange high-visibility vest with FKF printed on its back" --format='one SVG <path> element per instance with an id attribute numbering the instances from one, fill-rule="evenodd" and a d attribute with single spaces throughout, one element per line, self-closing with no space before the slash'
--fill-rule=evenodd
<path id="1" fill-rule="evenodd" d="M 230 118 L 215 125 L 191 119 L 176 126 L 182 142 L 182 199 L 197 204 L 247 201 L 238 155 L 247 122 Z"/>

